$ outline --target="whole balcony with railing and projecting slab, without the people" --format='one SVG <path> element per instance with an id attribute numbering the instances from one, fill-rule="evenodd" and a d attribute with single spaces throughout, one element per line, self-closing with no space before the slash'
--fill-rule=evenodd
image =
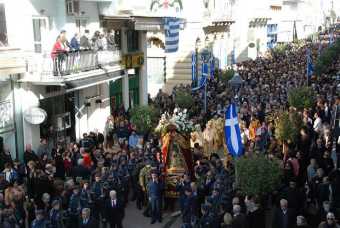
<path id="1" fill-rule="evenodd" d="M 120 50 L 57 53 L 55 58 L 51 52 L 26 52 L 25 63 L 26 72 L 21 82 L 66 88 L 72 81 L 83 86 L 89 82 L 99 84 L 122 76 L 125 69 L 121 65 Z"/>

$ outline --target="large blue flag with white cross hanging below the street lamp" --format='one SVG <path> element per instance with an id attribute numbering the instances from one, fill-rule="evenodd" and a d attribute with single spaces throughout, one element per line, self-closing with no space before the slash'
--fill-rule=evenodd
<path id="1" fill-rule="evenodd" d="M 234 156 L 242 155 L 241 133 L 238 126 L 238 116 L 235 104 L 229 105 L 225 118 L 225 140 L 229 153 Z"/>

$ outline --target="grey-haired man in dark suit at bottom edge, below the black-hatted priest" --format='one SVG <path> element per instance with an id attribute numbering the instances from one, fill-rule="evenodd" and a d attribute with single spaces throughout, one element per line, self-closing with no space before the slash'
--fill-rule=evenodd
<path id="1" fill-rule="evenodd" d="M 280 200 L 280 208 L 276 208 L 272 219 L 272 228 L 290 228 L 295 222 L 294 210 L 288 207 L 288 201 Z"/>

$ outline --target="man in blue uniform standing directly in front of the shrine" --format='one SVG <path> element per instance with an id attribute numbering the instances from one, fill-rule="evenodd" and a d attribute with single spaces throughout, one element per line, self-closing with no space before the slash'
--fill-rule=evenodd
<path id="1" fill-rule="evenodd" d="M 162 223 L 163 181 L 158 180 L 157 176 L 157 171 L 153 170 L 151 173 L 152 179 L 149 180 L 149 201 L 151 201 L 152 207 L 151 224 L 154 224 L 156 219 Z"/>

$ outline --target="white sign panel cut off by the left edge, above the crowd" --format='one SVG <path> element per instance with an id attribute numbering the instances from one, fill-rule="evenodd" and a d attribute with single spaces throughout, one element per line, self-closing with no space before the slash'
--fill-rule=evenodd
<path id="1" fill-rule="evenodd" d="M 2 101 L 0 102 L 0 133 L 14 129 L 12 102 Z"/>

